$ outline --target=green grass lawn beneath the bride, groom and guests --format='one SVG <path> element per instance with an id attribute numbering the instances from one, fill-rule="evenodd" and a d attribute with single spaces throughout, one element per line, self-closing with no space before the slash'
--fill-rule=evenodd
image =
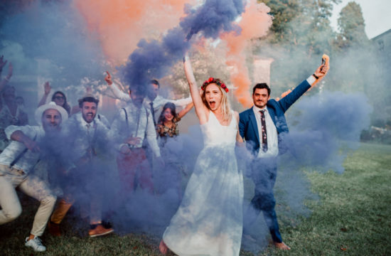
<path id="1" fill-rule="evenodd" d="M 282 221 L 284 242 L 292 250 L 267 247 L 261 255 L 391 255 L 391 146 L 361 144 L 344 167 L 343 174 L 306 173 L 319 201 L 307 202 L 312 213 L 297 225 Z M 62 238 L 45 233 L 47 252 L 33 252 L 23 240 L 37 203 L 25 198 L 22 207 L 21 217 L 0 226 L 0 255 L 159 255 L 159 238 L 133 234 L 87 238 L 80 235 L 85 231 L 75 228 Z M 66 229 L 71 221 L 64 224 Z"/>

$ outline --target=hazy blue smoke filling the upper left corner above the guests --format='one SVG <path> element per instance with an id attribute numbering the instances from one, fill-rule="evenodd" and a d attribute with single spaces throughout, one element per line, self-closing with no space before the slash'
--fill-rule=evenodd
<path id="1" fill-rule="evenodd" d="M 0 26 L 0 50 L 14 63 L 15 76 L 52 77 L 54 87 L 67 87 L 79 85 L 81 78 L 101 75 L 100 42 L 87 31 L 72 1 L 31 1 L 22 7 Z M 7 48 L 16 45 L 21 53 L 12 55 Z M 37 60 L 50 65 L 40 69 Z"/>

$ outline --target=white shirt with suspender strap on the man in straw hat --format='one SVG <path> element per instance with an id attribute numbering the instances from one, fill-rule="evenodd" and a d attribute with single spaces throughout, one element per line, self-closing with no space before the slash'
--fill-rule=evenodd
<path id="1" fill-rule="evenodd" d="M 39 142 L 45 136 L 45 131 L 41 126 L 16 126 L 10 125 L 5 129 L 6 137 L 11 139 L 11 134 L 15 131 L 21 131 L 30 139 L 34 139 Z M 22 142 L 16 142 L 14 140 L 4 149 L 4 151 L 0 154 L 0 164 L 4 164 L 9 166 L 12 161 L 18 157 L 23 150 L 26 149 L 26 146 Z M 24 171 L 26 174 L 33 169 L 33 167 L 37 164 L 39 160 L 40 154 L 38 152 L 33 152 L 31 150 L 27 150 L 23 156 L 14 164 L 14 168 L 18 170 Z"/>

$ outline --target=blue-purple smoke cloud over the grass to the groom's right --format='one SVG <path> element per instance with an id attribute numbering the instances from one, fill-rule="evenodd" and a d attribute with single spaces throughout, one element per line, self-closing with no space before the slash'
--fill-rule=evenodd
<path id="1" fill-rule="evenodd" d="M 289 112 L 296 161 L 318 170 L 343 172 L 343 161 L 356 149 L 370 124 L 372 107 L 362 93 L 324 92 L 304 97 Z"/>

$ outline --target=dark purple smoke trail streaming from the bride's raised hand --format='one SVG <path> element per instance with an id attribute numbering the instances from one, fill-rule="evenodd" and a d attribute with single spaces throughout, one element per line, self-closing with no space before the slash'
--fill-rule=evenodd
<path id="1" fill-rule="evenodd" d="M 139 41 L 121 68 L 124 80 L 132 86 L 144 86 L 151 78 L 162 78 L 190 47 L 186 37 L 202 33 L 205 38 L 217 38 L 223 31 L 238 33 L 240 28 L 232 21 L 243 11 L 241 0 L 207 0 L 197 9 L 187 5 L 187 16 L 181 18 L 180 26 L 169 30 L 161 41 Z"/>

